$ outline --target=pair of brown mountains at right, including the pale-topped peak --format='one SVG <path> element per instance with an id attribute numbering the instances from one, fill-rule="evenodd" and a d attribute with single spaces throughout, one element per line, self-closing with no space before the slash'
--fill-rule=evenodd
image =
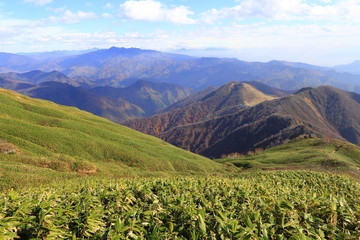
<path id="1" fill-rule="evenodd" d="M 321 86 L 278 96 L 251 82 L 232 82 L 201 98 L 192 96 L 193 102 L 179 108 L 125 125 L 215 158 L 270 148 L 302 135 L 360 144 L 359 94 Z"/>

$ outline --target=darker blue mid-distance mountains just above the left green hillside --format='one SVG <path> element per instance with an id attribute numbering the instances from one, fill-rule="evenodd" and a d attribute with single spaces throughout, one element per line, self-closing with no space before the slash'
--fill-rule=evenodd
<path id="1" fill-rule="evenodd" d="M 117 123 L 150 116 L 192 93 L 191 89 L 186 87 L 146 81 L 137 81 L 126 88 L 93 89 L 74 87 L 68 82 L 70 79 L 57 71 L 0 74 L 2 88 L 74 106 Z"/>

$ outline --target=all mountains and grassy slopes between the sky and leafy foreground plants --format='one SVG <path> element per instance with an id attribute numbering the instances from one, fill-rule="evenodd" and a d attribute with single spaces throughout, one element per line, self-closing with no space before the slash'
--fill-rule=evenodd
<path id="1" fill-rule="evenodd" d="M 15 176 L 10 185 L 19 166 L 39 182 L 53 170 L 61 179 L 303 163 L 359 175 L 356 62 L 328 68 L 116 47 L 0 60 L 0 87 L 18 92 L 0 90 L 0 176 Z M 275 161 L 277 153 L 286 157 Z"/>

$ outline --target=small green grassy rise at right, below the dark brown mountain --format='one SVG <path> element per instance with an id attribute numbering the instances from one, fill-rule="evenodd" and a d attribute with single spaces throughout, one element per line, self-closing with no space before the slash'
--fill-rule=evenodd
<path id="1" fill-rule="evenodd" d="M 243 170 L 310 169 L 360 178 L 360 147 L 328 138 L 297 138 L 263 152 L 218 159 Z"/>

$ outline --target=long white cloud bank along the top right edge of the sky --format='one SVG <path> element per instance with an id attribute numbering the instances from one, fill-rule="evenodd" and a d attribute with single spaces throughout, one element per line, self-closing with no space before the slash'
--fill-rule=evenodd
<path id="1" fill-rule="evenodd" d="M 202 16 L 206 23 L 219 19 L 360 20 L 359 0 L 322 2 L 326 4 L 310 4 L 304 0 L 243 0 L 234 7 L 212 9 Z"/>

